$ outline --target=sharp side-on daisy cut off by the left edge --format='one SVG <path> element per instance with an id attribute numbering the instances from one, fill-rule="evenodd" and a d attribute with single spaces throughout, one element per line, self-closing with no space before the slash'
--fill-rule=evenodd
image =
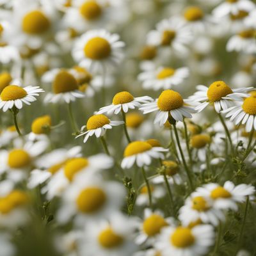
<path id="1" fill-rule="evenodd" d="M 44 90 L 39 86 L 8 85 L 0 94 L 0 109 L 3 109 L 4 112 L 13 107 L 21 109 L 23 104 L 30 105 L 30 102 L 35 101 L 35 96 L 39 96 L 41 92 Z"/>

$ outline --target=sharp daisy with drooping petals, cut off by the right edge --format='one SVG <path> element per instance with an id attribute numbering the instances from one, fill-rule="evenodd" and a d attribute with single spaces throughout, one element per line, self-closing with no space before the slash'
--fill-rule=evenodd
<path id="1" fill-rule="evenodd" d="M 235 125 L 245 124 L 246 132 L 256 130 L 256 95 L 244 99 L 239 106 L 228 108 L 223 113 L 227 113 L 226 117 Z"/>

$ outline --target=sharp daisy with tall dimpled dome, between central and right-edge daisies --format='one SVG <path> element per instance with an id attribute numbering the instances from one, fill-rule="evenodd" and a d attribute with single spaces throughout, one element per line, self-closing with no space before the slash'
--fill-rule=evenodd
<path id="1" fill-rule="evenodd" d="M 230 101 L 243 100 L 243 97 L 248 97 L 248 92 L 252 88 L 231 89 L 225 82 L 216 81 L 209 88 L 204 85 L 196 86 L 198 92 L 188 97 L 188 103 L 197 104 L 195 109 L 200 112 L 209 104 L 214 106 L 217 113 L 222 109 L 230 107 Z"/>

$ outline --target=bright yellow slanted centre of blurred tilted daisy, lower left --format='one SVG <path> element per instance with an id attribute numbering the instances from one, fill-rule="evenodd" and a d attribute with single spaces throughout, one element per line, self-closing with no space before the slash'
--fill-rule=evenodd
<path id="1" fill-rule="evenodd" d="M 88 166 L 88 160 L 83 157 L 71 159 L 65 164 L 64 173 L 68 180 L 72 181 L 77 172 Z"/>

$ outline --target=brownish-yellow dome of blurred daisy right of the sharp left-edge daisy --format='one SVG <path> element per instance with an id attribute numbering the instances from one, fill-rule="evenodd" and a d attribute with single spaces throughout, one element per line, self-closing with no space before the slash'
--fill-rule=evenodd
<path id="1" fill-rule="evenodd" d="M 65 70 L 60 71 L 54 78 L 52 90 L 54 93 L 71 92 L 78 89 L 77 81 L 72 74 Z"/>

